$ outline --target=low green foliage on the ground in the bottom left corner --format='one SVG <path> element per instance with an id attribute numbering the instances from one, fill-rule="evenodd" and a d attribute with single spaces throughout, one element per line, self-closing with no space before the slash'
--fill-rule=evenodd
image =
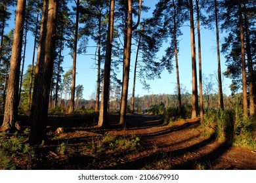
<path id="1" fill-rule="evenodd" d="M 26 130 L 26 133 L 28 130 Z M 25 137 L 14 133 L 11 137 L 7 133 L 0 133 L 0 169 L 16 169 L 17 159 L 22 159 L 27 165 L 35 158 L 35 151 L 28 144 L 24 143 Z M 28 168 L 28 167 L 27 167 Z"/>

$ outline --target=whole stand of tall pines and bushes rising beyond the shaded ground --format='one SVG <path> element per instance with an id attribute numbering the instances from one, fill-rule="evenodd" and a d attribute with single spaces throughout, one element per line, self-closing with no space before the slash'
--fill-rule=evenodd
<path id="1" fill-rule="evenodd" d="M 161 114 L 167 123 L 179 118 L 200 119 L 208 126 L 226 121 L 234 126 L 237 139 L 248 139 L 255 146 L 255 0 L 158 0 L 152 15 L 142 17 L 150 9 L 147 4 L 142 0 L 2 0 L 2 129 L 16 131 L 20 116 L 28 116 L 28 142 L 33 145 L 47 141 L 49 114 L 97 114 L 100 128 L 108 125 L 111 112 L 118 113 L 119 124 L 125 124 L 127 113 L 149 113 Z M 10 29 L 14 16 L 15 26 Z M 191 46 L 187 54 L 191 54 L 192 76 L 179 72 L 184 64 L 179 59 L 184 26 L 190 29 L 186 41 Z M 210 39 L 217 50 L 215 75 L 203 74 L 202 27 L 215 33 Z M 33 49 L 28 50 L 28 42 L 33 42 Z M 163 44 L 168 46 L 160 57 Z M 33 53 L 31 61 L 28 52 Z M 96 90 L 89 100 L 83 99 L 87 86 L 76 84 L 77 57 L 82 55 L 95 59 Z M 71 69 L 63 66 L 65 57 L 72 59 Z M 25 61 L 30 62 L 27 68 Z M 175 73 L 174 94 L 136 93 L 138 82 L 149 90 L 150 80 L 161 78 L 163 71 Z M 191 86 L 182 86 L 184 77 L 192 80 Z M 224 77 L 232 80 L 230 95 L 223 93 Z"/>

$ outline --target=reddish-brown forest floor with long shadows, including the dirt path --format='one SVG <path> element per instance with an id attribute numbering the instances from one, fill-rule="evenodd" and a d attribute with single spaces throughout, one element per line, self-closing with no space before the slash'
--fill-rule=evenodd
<path id="1" fill-rule="evenodd" d="M 129 114 L 120 126 L 110 114 L 108 127 L 97 129 L 96 114 L 49 119 L 49 141 L 34 146 L 30 169 L 256 169 L 254 150 L 203 135 L 198 120 L 163 125 L 160 116 Z"/>

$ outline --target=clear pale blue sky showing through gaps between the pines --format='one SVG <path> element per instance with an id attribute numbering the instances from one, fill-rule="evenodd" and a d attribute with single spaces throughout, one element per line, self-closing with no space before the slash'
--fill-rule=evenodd
<path id="1" fill-rule="evenodd" d="M 146 5 L 151 7 L 148 13 L 142 13 L 143 17 L 151 16 L 152 10 L 154 10 L 154 5 L 157 1 L 144 1 Z M 9 28 L 14 27 L 13 20 L 9 22 Z M 5 33 L 8 32 L 6 29 Z M 182 27 L 183 35 L 179 37 L 179 72 L 180 72 L 180 83 L 183 86 L 183 90 L 187 92 L 192 91 L 192 72 L 191 72 L 191 48 L 190 48 L 190 28 L 188 26 Z M 31 34 L 31 33 L 29 33 Z M 215 74 L 217 73 L 217 49 L 216 49 L 216 37 L 215 32 L 210 30 L 205 30 L 202 27 L 201 31 L 202 37 L 202 71 L 205 75 Z M 221 37 L 221 41 L 223 41 Z M 163 44 L 160 52 L 158 53 L 158 59 L 161 59 L 161 56 L 165 54 L 165 46 L 169 43 Z M 89 46 L 96 46 L 96 43 L 93 41 L 89 42 Z M 197 39 L 196 39 L 196 46 L 197 46 Z M 197 48 L 197 47 L 196 47 Z M 135 49 L 135 46 L 132 46 L 132 49 Z M 27 45 L 27 52 L 26 52 L 26 63 L 24 70 L 28 68 L 28 65 L 32 63 L 32 53 L 33 52 L 33 37 L 28 35 L 28 45 Z M 68 69 L 72 68 L 72 58 L 68 53 L 70 50 L 66 48 L 64 50 L 63 55 L 64 63 L 63 67 L 64 70 L 67 71 Z M 88 48 L 87 54 L 95 54 L 95 48 Z M 198 52 L 196 54 L 197 62 L 198 62 Z M 84 87 L 83 97 L 85 99 L 93 99 L 95 98 L 96 92 L 96 67 L 95 67 L 95 56 L 78 56 L 77 57 L 77 77 L 76 77 L 76 85 L 81 84 Z M 134 61 L 135 61 L 135 53 L 132 53 L 131 56 L 131 73 L 130 73 L 130 83 L 129 83 L 129 95 L 132 92 L 132 81 L 133 81 L 133 68 L 134 68 Z M 173 64 L 175 65 L 173 58 Z M 224 65 L 224 57 L 221 56 L 221 69 L 222 72 L 226 69 Z M 121 67 L 120 67 L 121 69 Z M 121 79 L 122 73 L 119 73 L 119 78 Z M 217 82 L 217 80 L 215 80 Z M 163 71 L 161 74 L 160 79 L 150 80 L 150 91 L 142 90 L 142 84 L 140 84 L 139 80 L 137 81 L 136 85 L 136 93 L 135 95 L 148 95 L 148 94 L 173 94 L 175 93 L 175 87 L 177 86 L 176 83 L 176 71 L 173 70 L 172 74 L 169 74 L 167 71 Z M 230 89 L 228 88 L 230 84 L 230 79 L 224 78 L 223 76 L 223 92 L 226 94 L 230 94 Z M 217 87 L 217 85 L 216 85 Z"/>

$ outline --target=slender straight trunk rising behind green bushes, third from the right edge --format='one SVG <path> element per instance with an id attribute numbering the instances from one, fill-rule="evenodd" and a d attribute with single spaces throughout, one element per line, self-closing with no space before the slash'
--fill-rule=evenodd
<path id="1" fill-rule="evenodd" d="M 219 88 L 219 108 L 224 109 L 223 102 L 223 84 L 221 79 L 221 52 L 219 46 L 219 18 L 218 18 L 218 4 L 217 0 L 214 1 L 215 5 L 215 27 L 216 27 L 216 42 L 217 42 L 217 58 L 218 58 L 218 88 Z"/>

